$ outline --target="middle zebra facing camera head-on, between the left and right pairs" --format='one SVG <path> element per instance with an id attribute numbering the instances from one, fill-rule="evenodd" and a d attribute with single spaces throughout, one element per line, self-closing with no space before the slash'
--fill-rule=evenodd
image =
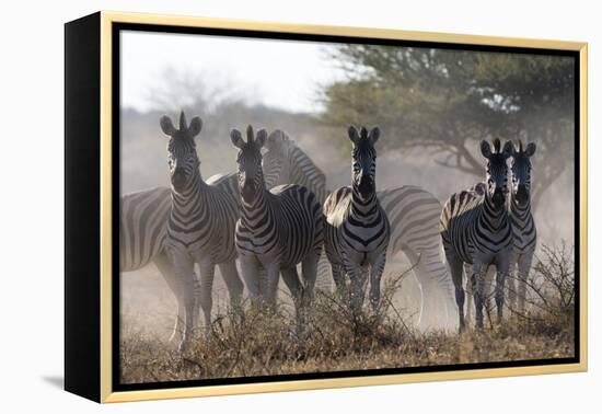
<path id="1" fill-rule="evenodd" d="M 389 219 L 377 197 L 377 150 L 380 129 L 348 129 L 352 142 L 351 186 L 334 191 L 324 203 L 326 255 L 339 290 L 350 279 L 350 304 L 355 313 L 363 301 L 366 272 L 370 269 L 370 303 L 380 301 L 381 277 L 391 238 Z"/>

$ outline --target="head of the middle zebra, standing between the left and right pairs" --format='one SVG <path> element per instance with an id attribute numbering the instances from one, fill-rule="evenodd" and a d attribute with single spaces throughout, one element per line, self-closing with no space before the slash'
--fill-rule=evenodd
<path id="1" fill-rule="evenodd" d="M 377 191 L 377 150 L 374 143 L 381 134 L 379 127 L 368 129 L 361 127 L 348 129 L 349 139 L 354 143 L 351 152 L 351 184 L 361 199 L 368 199 Z"/>

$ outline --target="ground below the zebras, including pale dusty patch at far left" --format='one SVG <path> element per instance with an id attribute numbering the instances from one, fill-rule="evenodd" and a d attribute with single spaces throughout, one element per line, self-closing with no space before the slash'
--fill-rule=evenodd
<path id="1" fill-rule="evenodd" d="M 525 315 L 514 313 L 500 325 L 487 322 L 483 331 L 459 335 L 455 330 L 417 330 L 413 323 L 417 307 L 410 300 L 417 286 L 412 277 L 402 280 L 394 284 L 390 275 L 378 314 L 367 310 L 360 318 L 354 318 L 336 295 L 316 295 L 308 311 L 310 327 L 299 334 L 285 291 L 270 314 L 248 306 L 244 312 L 229 311 L 218 277 L 211 332 L 199 332 L 193 346 L 180 354 L 166 342 L 175 301 L 157 269 L 124 274 L 121 380 L 136 383 L 574 356 L 572 307 L 556 306 L 554 290 L 541 290 L 552 295 L 546 297 L 549 308 L 531 306 Z"/>

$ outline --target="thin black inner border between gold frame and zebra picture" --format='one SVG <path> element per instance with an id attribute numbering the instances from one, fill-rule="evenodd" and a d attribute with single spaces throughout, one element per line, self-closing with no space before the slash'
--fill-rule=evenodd
<path id="1" fill-rule="evenodd" d="M 132 32 L 150 32 L 150 33 L 166 33 L 166 34 L 189 34 L 189 35 L 213 35 L 228 37 L 246 37 L 262 39 L 280 39 L 280 41 L 303 41 L 319 43 L 355 43 L 355 44 L 371 44 L 383 46 L 401 46 L 401 47 L 426 47 L 439 49 L 456 49 L 471 51 L 493 51 L 493 53 L 512 53 L 512 54 L 529 54 L 529 55 L 546 55 L 546 56 L 565 56 L 571 57 L 575 60 L 575 356 L 571 358 L 551 358 L 551 359 L 526 359 L 513 361 L 497 361 L 497 363 L 478 363 L 478 364 L 460 364 L 460 365 L 438 365 L 438 366 L 421 366 L 421 367 L 405 367 L 405 368 L 383 368 L 369 370 L 346 370 L 346 371 L 329 371 L 329 372 L 308 372 L 308 373 L 291 373 L 281 376 L 257 376 L 257 377 L 240 377 L 240 378 L 216 378 L 201 380 L 182 380 L 182 381 L 163 381 L 163 382 L 144 382 L 144 383 L 120 383 L 120 354 L 119 354 L 119 189 L 120 189 L 120 42 L 119 34 L 121 31 Z M 373 377 L 383 375 L 400 375 L 400 373 L 418 373 L 418 372 L 448 372 L 448 371 L 465 371 L 475 369 L 491 369 L 491 368 L 518 368 L 533 366 L 549 366 L 560 364 L 579 364 L 580 355 L 580 303 L 581 303 L 581 287 L 580 287 L 580 257 L 581 257 L 581 238 L 580 238 L 580 196 L 581 196 L 581 136 L 580 136 L 580 115 L 581 115 L 581 60 L 578 50 L 564 49 L 546 49 L 546 48 L 530 48 L 517 46 L 491 46 L 491 45 L 472 45 L 462 43 L 439 43 L 426 41 L 406 41 L 406 39 L 390 39 L 390 38 L 368 38 L 360 36 L 339 36 L 339 35 L 317 35 L 317 34 L 299 34 L 286 32 L 268 32 L 268 31 L 251 31 L 251 30 L 234 30 L 234 28 L 213 28 L 213 27 L 192 27 L 177 25 L 162 24 L 146 24 L 146 23 L 112 23 L 112 185 L 113 185 L 113 205 L 112 205 L 112 228 L 113 228 L 113 287 L 112 287 L 112 391 L 141 391 L 157 389 L 175 389 L 187 387 L 210 387 L 210 386 L 231 386 L 245 384 L 257 382 L 282 382 L 296 380 L 320 380 L 347 377 Z"/>

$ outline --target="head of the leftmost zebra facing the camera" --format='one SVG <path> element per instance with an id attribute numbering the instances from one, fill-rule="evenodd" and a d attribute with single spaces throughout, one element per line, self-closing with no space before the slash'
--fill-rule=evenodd
<path id="1" fill-rule="evenodd" d="M 167 142 L 167 165 L 170 168 L 170 180 L 172 188 L 181 193 L 192 182 L 195 173 L 198 172 L 198 160 L 195 136 L 202 128 L 202 120 L 195 116 L 190 125 L 186 123 L 184 111 L 180 114 L 180 128 L 176 129 L 172 119 L 163 115 L 160 119 L 161 129 L 170 137 Z"/>

